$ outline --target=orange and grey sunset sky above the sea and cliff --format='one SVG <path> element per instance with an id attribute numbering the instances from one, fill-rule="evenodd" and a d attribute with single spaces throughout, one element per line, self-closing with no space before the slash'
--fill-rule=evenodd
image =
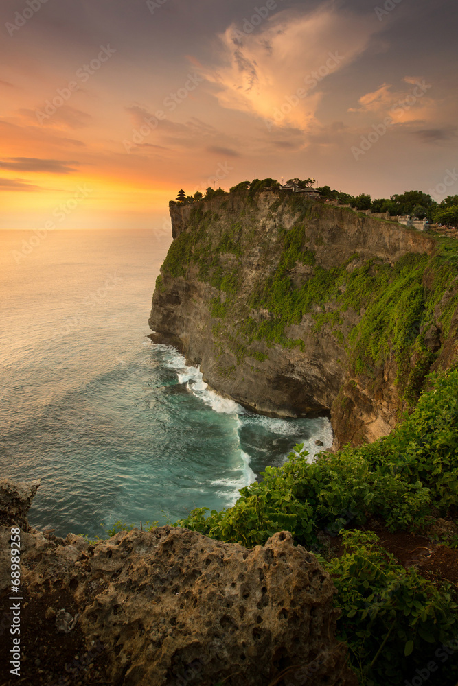
<path id="1" fill-rule="evenodd" d="M 179 189 L 253 178 L 458 193 L 457 19 L 455 0 L 2 0 L 0 228 L 161 227 Z"/>

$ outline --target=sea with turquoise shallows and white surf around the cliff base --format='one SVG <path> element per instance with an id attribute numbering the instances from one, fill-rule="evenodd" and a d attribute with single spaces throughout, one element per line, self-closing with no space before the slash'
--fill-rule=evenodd
<path id="1" fill-rule="evenodd" d="M 168 235 L 60 231 L 18 258 L 24 238 L 1 234 L 1 476 L 42 479 L 32 525 L 93 536 L 221 509 L 297 442 L 331 445 L 327 419 L 246 412 L 146 338 Z"/>

